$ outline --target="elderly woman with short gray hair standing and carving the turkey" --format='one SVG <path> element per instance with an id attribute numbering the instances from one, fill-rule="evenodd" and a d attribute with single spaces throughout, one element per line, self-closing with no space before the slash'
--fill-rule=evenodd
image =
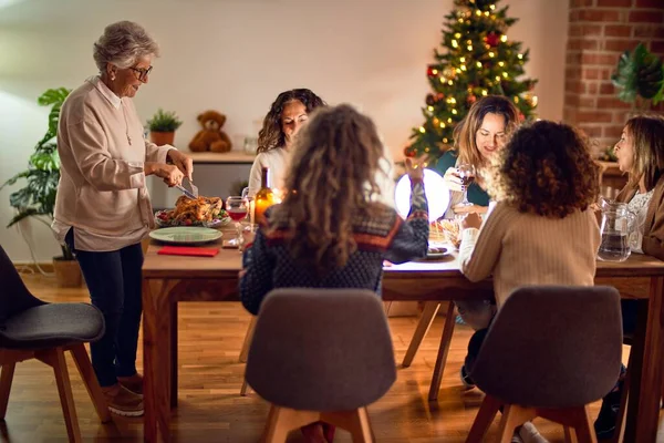
<path id="1" fill-rule="evenodd" d="M 92 364 L 111 411 L 126 416 L 143 414 L 143 378 L 136 371 L 141 240 L 154 227 L 145 177 L 174 186 L 193 173 L 190 157 L 144 138 L 132 102 L 157 55 L 141 25 L 106 27 L 94 44 L 100 74 L 68 96 L 58 128 L 53 230 L 75 253 L 92 303 L 104 315 L 106 332 L 91 344 Z"/>

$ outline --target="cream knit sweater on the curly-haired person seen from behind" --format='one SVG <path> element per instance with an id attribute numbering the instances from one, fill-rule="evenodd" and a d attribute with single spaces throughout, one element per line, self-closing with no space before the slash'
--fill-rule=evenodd
<path id="1" fill-rule="evenodd" d="M 471 281 L 494 276 L 500 307 L 519 286 L 593 286 L 599 247 L 600 228 L 592 210 L 548 218 L 500 202 L 480 230 L 464 230 L 459 264 Z"/>

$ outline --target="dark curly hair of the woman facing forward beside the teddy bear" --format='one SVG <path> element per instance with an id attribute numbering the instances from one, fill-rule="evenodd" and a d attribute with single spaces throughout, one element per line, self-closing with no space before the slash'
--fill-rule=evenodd
<path id="1" fill-rule="evenodd" d="M 257 152 L 268 152 L 286 145 L 286 134 L 281 127 L 281 113 L 283 112 L 283 106 L 293 101 L 302 103 L 308 114 L 317 107 L 325 105 L 325 102 L 320 96 L 303 87 L 284 91 L 279 94 L 263 119 L 262 128 L 258 133 Z"/>

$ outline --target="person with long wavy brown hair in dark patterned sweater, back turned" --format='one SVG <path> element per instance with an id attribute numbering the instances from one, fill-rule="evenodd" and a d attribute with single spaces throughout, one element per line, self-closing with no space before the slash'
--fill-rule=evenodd
<path id="1" fill-rule="evenodd" d="M 382 157 L 371 119 L 350 105 L 317 110 L 293 146 L 283 202 L 268 209 L 245 250 L 240 299 L 249 312 L 257 315 L 274 288 L 364 288 L 378 295 L 383 260 L 426 256 L 423 169 L 406 163 L 412 198 L 404 222 L 376 198 Z M 324 441 L 322 432 L 321 424 L 303 429 L 311 442 Z"/>

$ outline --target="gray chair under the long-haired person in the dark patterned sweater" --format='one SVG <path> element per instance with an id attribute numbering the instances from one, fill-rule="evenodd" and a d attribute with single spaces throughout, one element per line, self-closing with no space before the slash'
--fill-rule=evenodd
<path id="1" fill-rule="evenodd" d="M 323 421 L 373 441 L 366 406 L 396 379 L 381 298 L 360 289 L 279 289 L 263 300 L 246 378 L 272 403 L 266 442 Z"/>

